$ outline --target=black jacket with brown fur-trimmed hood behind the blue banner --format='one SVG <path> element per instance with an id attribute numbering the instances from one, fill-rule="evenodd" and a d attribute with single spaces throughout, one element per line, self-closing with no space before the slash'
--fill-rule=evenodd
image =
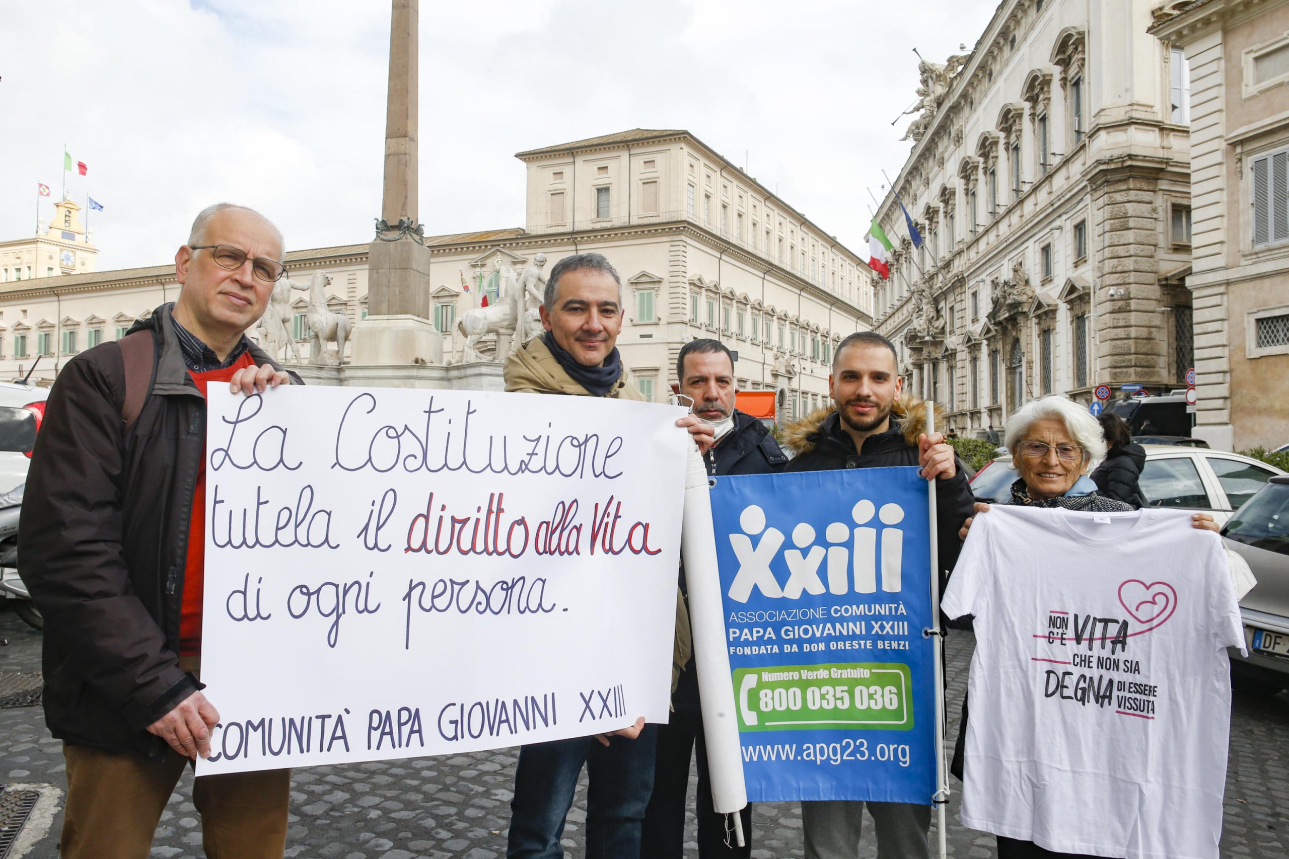
<path id="1" fill-rule="evenodd" d="M 786 443 L 797 452 L 797 457 L 788 464 L 786 470 L 829 471 L 918 465 L 918 437 L 926 428 L 926 407 L 919 401 L 896 403 L 891 421 L 893 426 L 886 433 L 870 435 L 864 442 L 864 449 L 856 451 L 855 442 L 840 426 L 837 411 L 819 410 L 788 428 Z M 958 563 L 958 554 L 962 551 L 958 531 L 972 515 L 974 501 L 959 460 L 958 473 L 953 478 L 936 480 L 936 545 L 940 550 L 941 586 L 947 571 Z"/>

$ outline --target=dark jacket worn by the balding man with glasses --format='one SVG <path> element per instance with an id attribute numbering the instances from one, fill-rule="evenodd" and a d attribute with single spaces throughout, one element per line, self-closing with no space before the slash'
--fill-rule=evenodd
<path id="1" fill-rule="evenodd" d="M 115 341 L 63 367 L 18 528 L 22 577 L 45 616 L 50 732 L 70 744 L 150 757 L 166 744 L 146 728 L 200 688 L 177 654 L 206 401 L 183 362 L 173 307 L 131 328 L 151 330 L 156 353 L 151 393 L 129 430 Z M 277 366 L 255 346 L 251 355 Z"/>

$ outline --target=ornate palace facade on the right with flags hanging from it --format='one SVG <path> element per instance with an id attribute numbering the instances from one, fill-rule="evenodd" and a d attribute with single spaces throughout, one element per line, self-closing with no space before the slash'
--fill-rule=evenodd
<path id="1" fill-rule="evenodd" d="M 1186 58 L 1151 0 L 1004 0 L 968 55 L 920 66 L 922 115 L 877 212 L 875 288 L 945 426 L 982 435 L 1026 401 L 1185 386 L 1194 366 Z M 900 238 L 902 237 L 902 240 Z"/>

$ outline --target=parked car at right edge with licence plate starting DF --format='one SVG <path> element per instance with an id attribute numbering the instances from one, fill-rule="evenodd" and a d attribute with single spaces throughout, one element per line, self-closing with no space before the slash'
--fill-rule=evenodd
<path id="1" fill-rule="evenodd" d="M 1222 538 L 1258 580 L 1240 600 L 1249 656 L 1231 652 L 1232 680 L 1244 692 L 1277 693 L 1289 686 L 1289 477 L 1267 480 Z"/>

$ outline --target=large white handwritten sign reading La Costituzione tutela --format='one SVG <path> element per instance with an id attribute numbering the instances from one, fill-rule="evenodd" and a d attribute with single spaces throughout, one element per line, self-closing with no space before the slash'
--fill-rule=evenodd
<path id="1" fill-rule="evenodd" d="M 211 385 L 197 774 L 666 721 L 683 413 Z"/>

